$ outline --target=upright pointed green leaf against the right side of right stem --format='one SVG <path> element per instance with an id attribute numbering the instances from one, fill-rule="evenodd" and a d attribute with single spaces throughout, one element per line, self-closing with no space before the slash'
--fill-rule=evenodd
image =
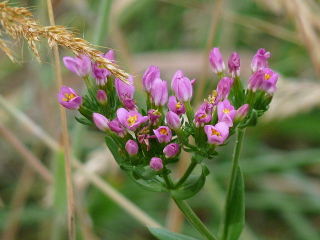
<path id="1" fill-rule="evenodd" d="M 244 226 L 244 183 L 239 165 L 233 189 L 226 202 L 224 218 L 222 239 L 238 239 Z"/>

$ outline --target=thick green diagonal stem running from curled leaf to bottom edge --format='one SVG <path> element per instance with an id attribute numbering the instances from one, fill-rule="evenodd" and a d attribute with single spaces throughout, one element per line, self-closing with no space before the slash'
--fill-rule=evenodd
<path id="1" fill-rule="evenodd" d="M 203 224 L 203 222 L 195 215 L 194 211 L 192 211 L 191 207 L 184 200 L 175 199 L 171 196 L 175 201 L 176 205 L 180 208 L 183 215 L 189 222 L 204 236 L 207 240 L 217 240 L 217 238 L 209 231 L 209 229 Z"/>

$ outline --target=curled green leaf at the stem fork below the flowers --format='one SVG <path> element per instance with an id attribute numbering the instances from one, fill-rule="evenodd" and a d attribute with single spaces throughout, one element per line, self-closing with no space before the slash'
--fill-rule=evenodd
<path id="1" fill-rule="evenodd" d="M 205 182 L 205 176 L 208 174 L 208 168 L 206 165 L 201 165 L 201 175 L 190 175 L 179 188 L 170 191 L 172 197 L 184 200 L 194 196 L 199 190 L 201 190 Z"/>

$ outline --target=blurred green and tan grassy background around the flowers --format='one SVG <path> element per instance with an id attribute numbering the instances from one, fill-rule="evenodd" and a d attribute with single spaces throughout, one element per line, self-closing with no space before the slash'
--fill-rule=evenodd
<path id="1" fill-rule="evenodd" d="M 271 52 L 269 67 L 280 73 L 269 111 L 244 138 L 240 165 L 245 179 L 246 225 L 240 239 L 320 239 L 320 4 L 316 0 L 53 0 L 55 23 L 68 26 L 96 47 L 115 49 L 122 69 L 132 73 L 135 99 L 144 104 L 140 80 L 159 66 L 170 81 L 177 69 L 197 78 L 194 108 L 215 88 L 208 63 L 219 46 L 227 62 L 237 51 L 241 79 L 250 75 L 258 48 Z M 49 25 L 45 0 L 26 6 Z M 5 36 L 4 36 L 5 37 Z M 5 39 L 9 40 L 9 38 Z M 0 137 L 0 237 L 2 240 L 67 239 L 63 156 L 30 130 L 22 111 L 57 142 L 61 127 L 54 61 L 46 40 L 38 64 L 23 40 L 10 47 L 20 64 L 0 53 L 0 121 L 53 173 L 47 183 L 17 149 Z M 60 57 L 72 55 L 60 49 Z M 62 65 L 64 85 L 83 92 L 84 84 Z M 7 109 L 9 108 L 9 110 Z M 11 109 L 11 113 L 10 113 Z M 67 111 L 70 149 L 90 172 L 100 175 L 163 226 L 202 239 L 183 220 L 167 193 L 148 192 L 131 182 L 104 145 L 103 133 L 80 125 Z M 207 161 L 205 187 L 188 202 L 217 232 L 230 171 L 232 145 Z M 187 162 L 187 155 L 183 155 Z M 181 166 L 183 167 L 183 165 Z M 75 167 L 76 239 L 154 239 L 135 217 L 103 193 Z"/>

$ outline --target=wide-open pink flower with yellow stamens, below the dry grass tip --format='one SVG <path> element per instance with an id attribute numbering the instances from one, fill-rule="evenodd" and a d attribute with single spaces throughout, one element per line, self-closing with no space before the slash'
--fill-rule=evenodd
<path id="1" fill-rule="evenodd" d="M 143 122 L 149 119 L 148 116 L 142 116 L 136 111 L 127 111 L 122 107 L 116 110 L 116 116 L 119 122 L 131 131 L 135 131 Z"/>

